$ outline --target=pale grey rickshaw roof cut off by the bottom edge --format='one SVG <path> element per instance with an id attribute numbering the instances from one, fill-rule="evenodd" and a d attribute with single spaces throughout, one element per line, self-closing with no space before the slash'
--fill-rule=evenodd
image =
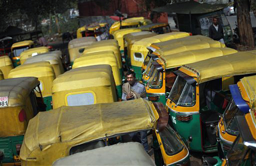
<path id="1" fill-rule="evenodd" d="M 100 156 L 100 160 L 99 160 Z M 156 166 L 138 142 L 119 143 L 60 158 L 52 166 Z"/>

